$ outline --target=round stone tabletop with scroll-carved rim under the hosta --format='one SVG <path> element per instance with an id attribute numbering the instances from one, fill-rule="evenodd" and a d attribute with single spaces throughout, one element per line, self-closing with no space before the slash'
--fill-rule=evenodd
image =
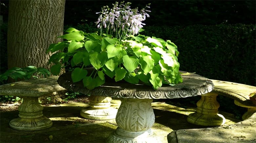
<path id="1" fill-rule="evenodd" d="M 184 71 L 180 71 L 186 73 Z M 64 73 L 58 78 L 58 84 L 67 90 L 83 94 L 133 99 L 172 99 L 197 96 L 213 90 L 213 82 L 198 74 L 181 75 L 183 82 L 175 86 L 163 85 L 157 90 L 151 86 L 125 82 L 107 82 L 89 90 L 82 81 L 73 83 L 71 73 Z"/>

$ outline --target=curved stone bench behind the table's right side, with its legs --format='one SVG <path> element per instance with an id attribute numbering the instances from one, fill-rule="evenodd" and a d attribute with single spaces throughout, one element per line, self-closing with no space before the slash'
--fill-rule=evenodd
<path id="1" fill-rule="evenodd" d="M 256 106 L 249 99 L 249 94 L 256 91 L 256 87 L 238 84 L 227 81 L 211 80 L 214 89 L 210 93 L 202 94 L 201 99 L 197 102 L 197 110 L 195 113 L 189 114 L 187 121 L 201 126 L 220 126 L 225 123 L 225 118 L 218 114 L 220 104 L 216 97 L 223 95 L 234 99 L 234 103 L 241 107 L 246 107 L 247 112 L 242 119 L 249 118 L 256 112 Z"/>

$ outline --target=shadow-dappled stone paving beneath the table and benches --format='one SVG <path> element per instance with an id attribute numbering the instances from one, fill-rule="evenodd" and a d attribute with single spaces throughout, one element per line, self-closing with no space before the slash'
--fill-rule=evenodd
<path id="1" fill-rule="evenodd" d="M 119 104 L 119 100 L 111 102 L 114 108 Z M 80 117 L 80 110 L 87 106 L 87 103 L 82 102 L 45 106 L 44 115 L 53 121 L 53 126 L 38 131 L 18 131 L 10 128 L 9 122 L 18 117 L 18 111 L 1 112 L 0 142 L 105 142 L 107 136 L 117 128 L 116 121 L 115 119 L 90 120 Z M 184 109 L 166 103 L 152 103 L 152 106 L 156 118 L 152 130 L 158 143 L 167 143 L 167 135 L 173 130 L 205 128 L 186 121 L 188 114 L 195 109 Z M 229 114 L 223 115 L 229 118 Z M 230 118 L 229 123 L 234 122 L 237 120 Z M 53 136 L 52 140 L 49 139 L 50 135 Z"/>

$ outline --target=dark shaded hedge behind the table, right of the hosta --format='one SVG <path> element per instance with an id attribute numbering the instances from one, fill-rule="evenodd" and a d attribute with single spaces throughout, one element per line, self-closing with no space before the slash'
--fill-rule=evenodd
<path id="1" fill-rule="evenodd" d="M 180 70 L 256 86 L 255 25 L 145 26 L 143 35 L 171 40 Z"/>

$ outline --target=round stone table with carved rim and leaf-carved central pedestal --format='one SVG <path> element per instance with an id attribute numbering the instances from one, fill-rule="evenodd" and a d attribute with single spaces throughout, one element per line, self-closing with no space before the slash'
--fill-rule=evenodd
<path id="1" fill-rule="evenodd" d="M 184 72 L 184 71 L 181 71 Z M 117 111 L 116 131 L 107 138 L 107 142 L 157 142 L 151 130 L 155 115 L 151 102 L 153 99 L 184 98 L 206 94 L 214 85 L 207 78 L 197 75 L 182 75 L 183 83 L 176 86 L 163 85 L 154 90 L 150 86 L 124 82 L 106 82 L 100 87 L 89 90 L 82 82 L 73 83 L 71 75 L 62 74 L 58 78 L 60 86 L 67 90 L 90 94 L 91 96 L 120 98 L 121 105 Z"/>

